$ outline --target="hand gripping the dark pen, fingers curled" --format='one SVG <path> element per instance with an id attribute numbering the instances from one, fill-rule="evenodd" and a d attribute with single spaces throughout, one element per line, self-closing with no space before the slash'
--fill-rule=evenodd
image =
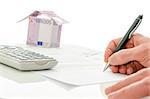
<path id="1" fill-rule="evenodd" d="M 150 38 L 134 34 L 125 45 L 125 49 L 114 52 L 121 38 L 112 40 L 104 54 L 114 73 L 132 74 L 150 66 Z"/>

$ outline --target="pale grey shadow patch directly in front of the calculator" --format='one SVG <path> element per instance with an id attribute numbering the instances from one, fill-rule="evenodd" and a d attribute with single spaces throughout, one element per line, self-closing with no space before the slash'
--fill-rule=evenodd
<path id="1" fill-rule="evenodd" d="M 0 76 L 9 80 L 13 80 L 17 83 L 33 83 L 45 81 L 45 78 L 38 74 L 32 73 L 30 71 L 19 71 L 4 64 L 0 64 Z"/>

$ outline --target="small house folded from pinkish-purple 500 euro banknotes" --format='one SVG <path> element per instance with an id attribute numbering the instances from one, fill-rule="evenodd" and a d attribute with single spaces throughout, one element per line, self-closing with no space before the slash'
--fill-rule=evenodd
<path id="1" fill-rule="evenodd" d="M 43 47 L 59 47 L 62 24 L 66 20 L 53 11 L 34 11 L 29 16 L 27 44 Z M 20 22 L 18 21 L 18 22 Z"/>

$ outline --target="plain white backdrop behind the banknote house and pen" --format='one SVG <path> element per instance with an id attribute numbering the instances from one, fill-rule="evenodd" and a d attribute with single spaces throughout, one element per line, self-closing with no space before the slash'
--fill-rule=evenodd
<path id="1" fill-rule="evenodd" d="M 63 26 L 61 43 L 104 51 L 108 42 L 123 36 L 143 14 L 137 32 L 150 35 L 149 0 L 3 0 L 0 1 L 0 44 L 26 42 L 28 20 L 34 10 L 52 10 L 70 23 Z"/>

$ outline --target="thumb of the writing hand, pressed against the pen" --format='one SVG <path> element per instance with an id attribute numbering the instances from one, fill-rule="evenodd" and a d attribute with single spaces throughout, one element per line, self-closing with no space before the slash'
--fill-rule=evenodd
<path id="1" fill-rule="evenodd" d="M 122 49 L 118 52 L 115 52 L 108 58 L 108 62 L 110 65 L 122 65 L 126 64 L 130 61 L 135 60 L 134 59 L 134 53 L 136 49 L 130 48 L 130 49 Z"/>

